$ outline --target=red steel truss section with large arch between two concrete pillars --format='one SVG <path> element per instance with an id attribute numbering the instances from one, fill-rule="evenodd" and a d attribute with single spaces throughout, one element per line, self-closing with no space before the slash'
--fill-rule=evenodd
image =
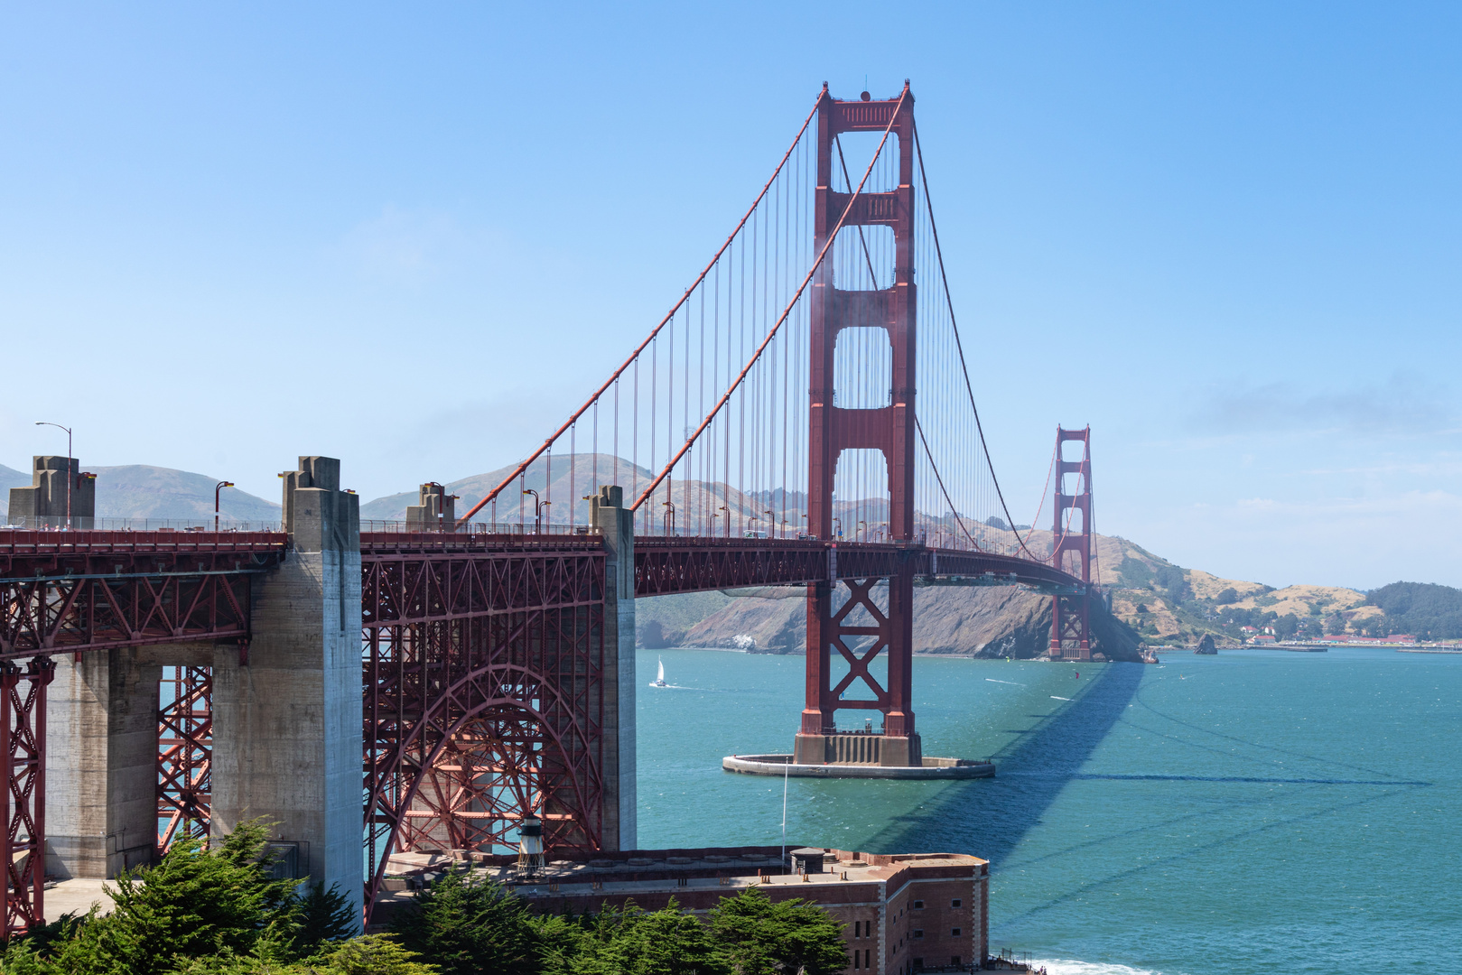
<path id="1" fill-rule="evenodd" d="M 601 846 L 604 551 L 564 542 L 363 541 L 368 895 L 390 852 L 500 851 L 528 814 Z"/>

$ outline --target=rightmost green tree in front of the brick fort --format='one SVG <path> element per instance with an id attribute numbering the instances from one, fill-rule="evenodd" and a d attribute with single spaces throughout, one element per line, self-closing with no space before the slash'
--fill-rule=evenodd
<path id="1" fill-rule="evenodd" d="M 848 968 L 842 925 L 794 898 L 773 903 L 760 887 L 722 898 L 711 936 L 737 975 L 832 975 Z"/>

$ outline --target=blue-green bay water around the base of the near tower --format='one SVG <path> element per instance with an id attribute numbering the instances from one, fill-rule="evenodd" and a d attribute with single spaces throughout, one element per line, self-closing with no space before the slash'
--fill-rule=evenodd
<path id="1" fill-rule="evenodd" d="M 721 757 L 789 750 L 803 659 L 637 665 L 640 846 L 781 842 L 782 782 Z M 914 688 L 924 753 L 997 776 L 792 779 L 788 842 L 984 857 L 991 950 L 1053 974 L 1462 974 L 1462 655 L 915 658 Z"/>

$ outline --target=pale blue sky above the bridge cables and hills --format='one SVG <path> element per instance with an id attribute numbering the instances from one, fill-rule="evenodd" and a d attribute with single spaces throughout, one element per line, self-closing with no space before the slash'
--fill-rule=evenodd
<path id="1" fill-rule="evenodd" d="M 0 463 L 497 468 L 823 80 L 911 77 L 1018 517 L 1091 422 L 1099 531 L 1462 585 L 1458 50 L 1424 3 L 6 4 Z"/>

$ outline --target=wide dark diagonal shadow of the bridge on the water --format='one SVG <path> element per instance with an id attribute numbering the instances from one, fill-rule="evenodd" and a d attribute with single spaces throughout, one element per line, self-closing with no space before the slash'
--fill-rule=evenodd
<path id="1" fill-rule="evenodd" d="M 993 757 L 993 779 L 956 782 L 868 841 L 880 852 L 969 852 L 1000 867 L 1091 759 L 1137 693 L 1142 664 L 1108 664 L 1067 705 Z M 1032 715 L 1035 716 L 1035 715 Z"/>

